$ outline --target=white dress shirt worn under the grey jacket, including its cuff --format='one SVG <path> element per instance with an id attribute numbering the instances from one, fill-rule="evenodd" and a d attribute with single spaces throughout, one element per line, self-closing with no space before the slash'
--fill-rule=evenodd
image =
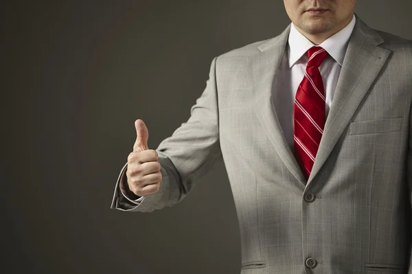
<path id="1" fill-rule="evenodd" d="M 328 117 L 339 73 L 341 73 L 343 59 L 345 58 L 347 44 L 355 23 L 356 17 L 354 15 L 352 21 L 346 27 L 319 45 L 319 47 L 323 47 L 323 49 L 329 53 L 321 66 L 319 66 L 325 90 L 325 119 Z M 288 47 L 282 59 L 282 64 L 277 71 L 272 88 L 273 104 L 275 105 L 277 118 L 292 151 L 294 151 L 293 110 L 295 95 L 299 84 L 302 79 L 304 79 L 306 71 L 308 56 L 305 53 L 311 47 L 314 47 L 314 44 L 302 35 L 292 23 L 288 38 Z M 144 200 L 144 197 L 140 197 L 137 200 L 129 199 L 123 191 L 122 195 L 137 205 Z"/>

